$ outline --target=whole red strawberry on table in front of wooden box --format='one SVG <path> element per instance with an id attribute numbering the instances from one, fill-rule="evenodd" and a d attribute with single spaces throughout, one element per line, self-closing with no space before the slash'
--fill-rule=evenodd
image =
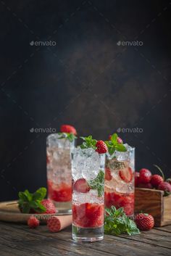
<path id="1" fill-rule="evenodd" d="M 135 223 L 141 231 L 147 231 L 154 227 L 154 218 L 147 213 L 138 213 L 135 215 Z"/>

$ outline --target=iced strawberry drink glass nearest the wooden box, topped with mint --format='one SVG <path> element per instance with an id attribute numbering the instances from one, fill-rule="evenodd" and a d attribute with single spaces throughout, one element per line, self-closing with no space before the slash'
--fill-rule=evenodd
<path id="1" fill-rule="evenodd" d="M 113 141 L 112 141 L 113 139 Z M 108 146 L 105 169 L 105 207 L 123 207 L 125 214 L 134 214 L 134 171 L 135 148 L 122 144 L 122 140 L 113 135 Z"/>

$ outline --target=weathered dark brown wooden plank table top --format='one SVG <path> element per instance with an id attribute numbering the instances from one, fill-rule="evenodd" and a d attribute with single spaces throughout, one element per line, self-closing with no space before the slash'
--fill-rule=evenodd
<path id="1" fill-rule="evenodd" d="M 138 236 L 109 236 L 94 243 L 76 243 L 71 227 L 50 233 L 46 226 L 30 229 L 26 225 L 0 222 L 1 256 L 156 256 L 171 255 L 171 226 L 154 228 Z"/>

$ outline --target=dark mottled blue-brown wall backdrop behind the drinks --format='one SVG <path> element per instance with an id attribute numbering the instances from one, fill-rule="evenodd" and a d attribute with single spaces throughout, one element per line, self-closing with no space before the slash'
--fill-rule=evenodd
<path id="1" fill-rule="evenodd" d="M 1 200 L 46 186 L 49 133 L 30 129 L 62 123 L 96 139 L 119 131 L 136 148 L 137 170 L 154 172 L 155 163 L 170 176 L 170 8 L 162 0 L 0 2 Z"/>

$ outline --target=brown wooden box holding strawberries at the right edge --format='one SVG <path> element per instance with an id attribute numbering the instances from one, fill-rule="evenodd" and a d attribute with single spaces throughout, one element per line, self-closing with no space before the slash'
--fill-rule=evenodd
<path id="1" fill-rule="evenodd" d="M 171 195 L 164 197 L 157 189 L 135 189 L 135 212 L 146 212 L 154 217 L 155 226 L 171 224 Z"/>

